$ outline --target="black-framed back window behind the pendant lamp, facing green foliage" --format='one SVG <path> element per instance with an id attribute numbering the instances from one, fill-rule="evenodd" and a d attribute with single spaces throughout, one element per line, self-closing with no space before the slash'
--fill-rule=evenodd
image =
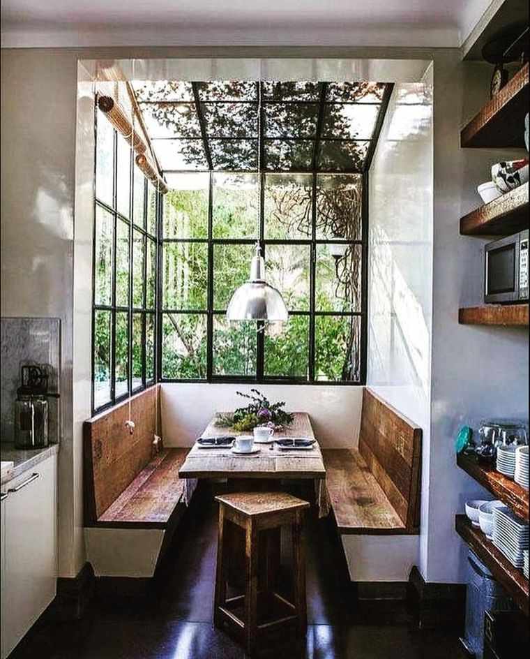
<path id="1" fill-rule="evenodd" d="M 258 200 L 257 172 L 167 175 L 160 379 L 364 383 L 367 175 L 261 176 Z M 282 327 L 226 320 L 257 240 L 289 309 Z"/>

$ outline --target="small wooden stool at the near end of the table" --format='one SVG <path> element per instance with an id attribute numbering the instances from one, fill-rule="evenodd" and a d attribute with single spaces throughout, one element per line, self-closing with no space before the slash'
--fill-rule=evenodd
<path id="1" fill-rule="evenodd" d="M 266 633 L 295 629 L 305 635 L 305 561 L 302 524 L 307 501 L 282 492 L 245 492 L 216 496 L 219 537 L 213 620 L 239 636 L 250 654 Z M 229 542 L 232 524 L 245 536 L 245 593 L 227 598 Z M 275 592 L 275 568 L 280 558 L 280 528 L 292 531 L 294 577 L 292 602 Z M 265 556 L 264 556 L 265 554 Z"/>

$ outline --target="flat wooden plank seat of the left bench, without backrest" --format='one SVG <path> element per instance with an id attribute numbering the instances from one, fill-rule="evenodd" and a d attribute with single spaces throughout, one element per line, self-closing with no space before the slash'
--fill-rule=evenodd
<path id="1" fill-rule="evenodd" d="M 95 526 L 167 528 L 183 497 L 185 482 L 179 479 L 179 468 L 187 454 L 187 448 L 162 450 L 98 517 Z"/>

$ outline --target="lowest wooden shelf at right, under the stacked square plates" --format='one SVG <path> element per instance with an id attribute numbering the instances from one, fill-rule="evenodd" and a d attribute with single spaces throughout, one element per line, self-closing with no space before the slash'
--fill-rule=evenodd
<path id="1" fill-rule="evenodd" d="M 455 528 L 480 561 L 491 570 L 495 579 L 506 588 L 522 612 L 528 615 L 528 579 L 524 577 L 522 570 L 515 568 L 493 542 L 487 540 L 480 528 L 471 525 L 471 521 L 465 515 L 455 517 Z"/>

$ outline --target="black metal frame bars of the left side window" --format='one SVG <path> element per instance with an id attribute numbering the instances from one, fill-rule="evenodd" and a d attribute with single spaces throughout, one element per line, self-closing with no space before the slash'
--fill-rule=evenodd
<path id="1" fill-rule="evenodd" d="M 150 184 L 146 177 L 142 174 L 142 184 L 144 186 L 144 202 L 143 202 L 143 221 L 142 226 L 139 226 L 135 223 L 134 218 L 134 193 L 135 193 L 135 163 L 133 158 L 130 160 L 129 167 L 129 216 L 123 216 L 118 210 L 117 203 L 117 179 L 118 179 L 118 143 L 119 140 L 124 138 L 119 135 L 115 128 L 112 128 L 113 133 L 113 142 L 112 142 L 112 153 L 113 153 L 113 168 L 112 168 L 112 205 L 109 205 L 107 202 L 104 202 L 97 198 L 96 196 L 96 171 L 98 166 L 98 119 L 102 117 L 100 111 L 98 111 L 98 104 L 95 103 L 94 108 L 94 206 L 93 206 L 93 236 L 92 236 L 92 312 L 91 312 L 91 410 L 92 414 L 99 414 L 108 408 L 112 408 L 117 403 L 126 401 L 128 397 L 133 396 L 147 387 L 151 387 L 156 384 L 158 380 L 157 373 L 157 334 L 158 334 L 158 258 L 160 251 L 160 242 L 158 239 L 158 230 L 160 227 L 160 213 L 161 213 L 161 203 L 160 203 L 160 193 L 155 190 L 156 203 L 155 203 L 155 227 L 154 234 L 148 232 L 147 221 L 148 221 L 148 205 L 149 205 L 149 186 Z M 103 121 L 107 119 L 103 118 Z M 130 146 L 128 145 L 130 149 Z M 98 208 L 103 209 L 103 211 L 112 215 L 112 279 L 111 279 L 111 304 L 96 304 L 96 233 L 97 233 L 97 212 Z M 129 272 L 128 272 L 128 306 L 123 306 L 116 304 L 116 251 L 117 251 L 117 227 L 118 222 L 124 222 L 128 225 L 128 236 L 129 236 Z M 132 301 L 132 291 L 133 291 L 133 250 L 134 250 L 134 240 L 133 237 L 137 232 L 139 235 L 142 235 L 144 239 L 144 254 L 143 254 L 143 265 L 142 265 L 142 279 L 143 279 L 143 293 L 142 293 L 142 306 L 133 306 Z M 149 251 L 149 245 L 153 244 L 155 246 L 155 259 L 154 259 L 154 291 L 153 291 L 153 306 L 147 306 L 147 253 Z M 95 369 L 95 348 L 96 348 L 96 312 L 97 311 L 107 311 L 111 314 L 111 341 L 110 341 L 110 399 L 105 403 L 96 406 L 96 369 Z M 126 392 L 116 396 L 116 317 L 117 313 L 128 313 L 128 377 L 127 377 L 127 389 Z M 142 318 L 142 336 L 140 339 L 140 346 L 142 350 L 142 377 L 141 383 L 133 387 L 133 377 L 132 377 L 132 366 L 133 366 L 133 318 L 135 314 L 141 314 Z M 147 377 L 147 360 L 146 360 L 146 327 L 147 327 L 147 318 L 152 316 L 153 320 L 153 363 L 151 365 L 152 377 Z"/>

